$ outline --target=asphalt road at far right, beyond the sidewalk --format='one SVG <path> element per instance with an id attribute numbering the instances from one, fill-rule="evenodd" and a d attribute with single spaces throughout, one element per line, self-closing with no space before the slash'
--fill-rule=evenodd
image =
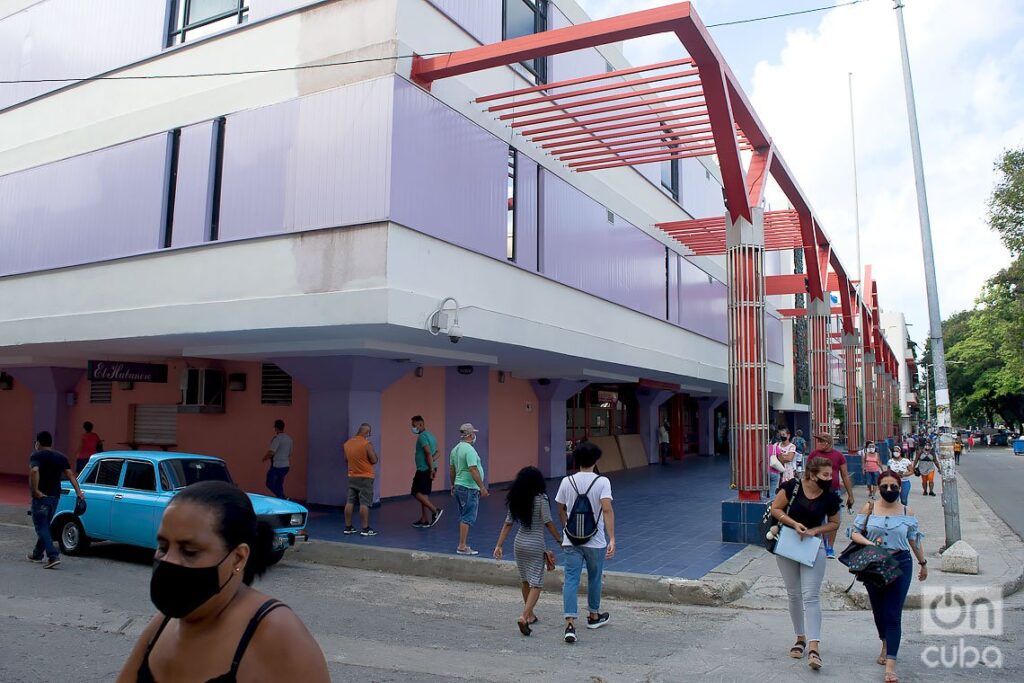
<path id="1" fill-rule="evenodd" d="M 961 456 L 959 473 L 1017 536 L 1024 539 L 1024 456 L 976 446 Z"/>

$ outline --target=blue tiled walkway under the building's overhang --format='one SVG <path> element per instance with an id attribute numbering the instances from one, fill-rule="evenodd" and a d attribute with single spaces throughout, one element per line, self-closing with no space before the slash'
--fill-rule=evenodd
<path id="1" fill-rule="evenodd" d="M 613 472 L 610 479 L 617 554 L 606 568 L 699 579 L 743 547 L 721 542 L 721 504 L 730 498 L 727 458 L 690 457 L 667 467 Z M 552 514 L 557 489 L 557 480 L 548 482 Z M 505 490 L 495 489 L 480 501 L 479 518 L 469 540 L 482 557 L 494 550 L 505 519 Z M 444 508 L 444 516 L 433 528 L 413 528 L 419 503 L 402 498 L 371 510 L 370 524 L 380 532 L 375 538 L 344 536 L 338 510 L 313 511 L 309 532 L 314 539 L 342 543 L 454 553 L 459 538 L 458 506 L 447 495 L 434 495 L 431 500 Z M 548 538 L 549 546 L 552 543 Z M 505 556 L 513 556 L 511 538 L 506 542 Z"/>

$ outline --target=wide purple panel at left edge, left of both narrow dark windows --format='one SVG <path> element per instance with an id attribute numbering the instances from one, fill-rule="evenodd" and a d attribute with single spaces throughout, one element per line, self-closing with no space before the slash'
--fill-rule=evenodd
<path id="1" fill-rule="evenodd" d="M 0 177 L 0 275 L 155 251 L 168 135 Z"/>

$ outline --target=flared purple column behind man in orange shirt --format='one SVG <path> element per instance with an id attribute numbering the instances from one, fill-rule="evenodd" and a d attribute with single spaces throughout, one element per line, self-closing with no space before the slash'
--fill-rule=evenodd
<path id="1" fill-rule="evenodd" d="M 361 356 L 274 358 L 279 368 L 309 390 L 309 454 L 306 498 L 309 503 L 344 505 L 348 468 L 342 444 L 359 424 L 373 428 L 371 442 L 381 453 L 381 395 L 413 371 L 408 362 Z M 397 455 L 397 454 L 396 454 Z M 388 457 L 382 454 L 381 457 Z M 380 463 L 374 502 L 380 500 Z"/>

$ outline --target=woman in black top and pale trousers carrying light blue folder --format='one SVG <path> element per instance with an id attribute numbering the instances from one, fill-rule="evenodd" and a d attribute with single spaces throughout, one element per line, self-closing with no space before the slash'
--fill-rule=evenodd
<path id="1" fill-rule="evenodd" d="M 831 462 L 826 458 L 811 458 L 802 479 L 792 479 L 779 489 L 772 501 L 771 515 L 780 524 L 791 526 L 801 539 L 825 539 L 839 528 L 839 509 L 842 502 L 833 489 Z M 821 582 L 825 577 L 824 543 L 818 547 L 812 566 L 788 557 L 775 556 L 779 573 L 785 583 L 790 601 L 790 618 L 797 642 L 790 648 L 790 656 L 803 658 L 807 649 L 807 664 L 819 670 L 821 659 Z"/>

